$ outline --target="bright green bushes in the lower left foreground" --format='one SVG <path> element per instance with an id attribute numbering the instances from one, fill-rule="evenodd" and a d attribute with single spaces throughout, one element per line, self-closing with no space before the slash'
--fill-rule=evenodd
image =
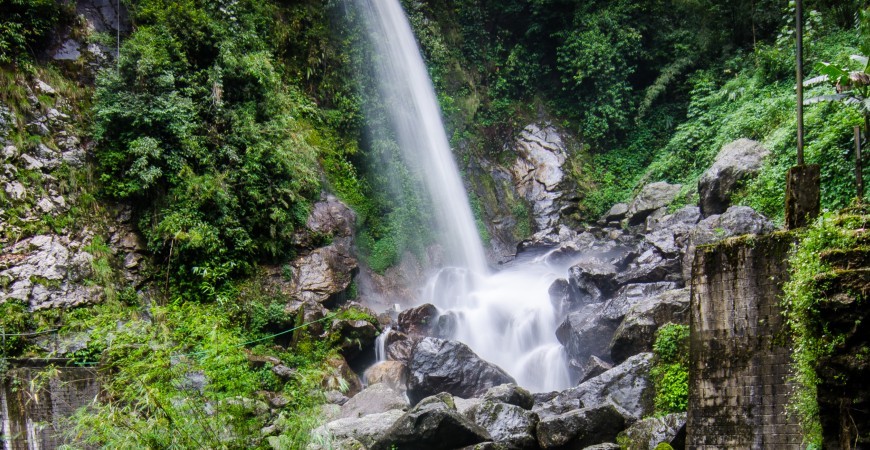
<path id="1" fill-rule="evenodd" d="M 240 328 L 237 317 L 217 305 L 187 302 L 149 312 L 107 302 L 70 313 L 62 332 L 88 331 L 88 347 L 77 356 L 99 357 L 106 375 L 105 395 L 72 419 L 76 442 L 103 448 L 270 448 L 259 430 L 273 422 L 287 431 L 280 439 L 288 448 L 307 445 L 307 430 L 317 420 L 314 408 L 322 401 L 327 346 L 306 337 L 292 350 L 268 341 L 247 350 L 245 342 L 257 334 Z M 295 375 L 282 380 L 270 363 L 249 363 L 249 354 L 277 357 Z M 287 399 L 277 416 L 264 390 Z"/>

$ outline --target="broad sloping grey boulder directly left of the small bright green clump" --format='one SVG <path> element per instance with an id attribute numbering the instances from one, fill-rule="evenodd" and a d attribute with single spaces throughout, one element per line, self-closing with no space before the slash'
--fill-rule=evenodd
<path id="1" fill-rule="evenodd" d="M 549 402 L 535 406 L 544 420 L 572 409 L 612 403 L 629 422 L 653 411 L 653 385 L 649 379 L 652 353 L 641 353 L 603 374 L 566 389 Z"/>

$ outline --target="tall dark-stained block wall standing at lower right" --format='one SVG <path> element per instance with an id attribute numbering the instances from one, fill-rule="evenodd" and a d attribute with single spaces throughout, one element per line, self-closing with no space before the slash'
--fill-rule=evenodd
<path id="1" fill-rule="evenodd" d="M 688 449 L 799 449 L 779 299 L 788 233 L 701 247 L 691 286 Z"/>

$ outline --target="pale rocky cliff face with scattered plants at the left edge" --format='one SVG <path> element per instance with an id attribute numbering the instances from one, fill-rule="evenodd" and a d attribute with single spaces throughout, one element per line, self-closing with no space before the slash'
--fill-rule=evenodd
<path id="1" fill-rule="evenodd" d="M 0 189 L 8 200 L 0 205 L 0 303 L 70 308 L 97 303 L 121 283 L 139 289 L 147 260 L 130 209 L 92 207 L 88 220 L 72 209 L 84 191 L 71 174 L 92 145 L 79 137 L 81 118 L 59 90 L 25 78 L 21 111 L 0 102 Z M 34 142 L 8 140 L 14 128 Z"/>

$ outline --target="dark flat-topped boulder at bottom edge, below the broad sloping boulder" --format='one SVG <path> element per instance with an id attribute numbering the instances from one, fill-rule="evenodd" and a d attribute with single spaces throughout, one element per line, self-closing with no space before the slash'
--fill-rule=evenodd
<path id="1" fill-rule="evenodd" d="M 542 449 L 582 449 L 613 442 L 625 428 L 625 419 L 613 405 L 569 411 L 538 423 L 538 444 Z"/>

